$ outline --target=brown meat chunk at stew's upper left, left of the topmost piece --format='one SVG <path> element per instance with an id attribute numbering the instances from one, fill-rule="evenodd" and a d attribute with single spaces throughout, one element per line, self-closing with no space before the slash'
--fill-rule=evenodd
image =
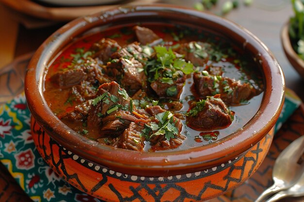
<path id="1" fill-rule="evenodd" d="M 111 55 L 121 47 L 113 39 L 102 38 L 99 42 L 94 43 L 91 49 L 95 52 L 93 58 L 99 58 L 104 64 L 109 62 Z"/>

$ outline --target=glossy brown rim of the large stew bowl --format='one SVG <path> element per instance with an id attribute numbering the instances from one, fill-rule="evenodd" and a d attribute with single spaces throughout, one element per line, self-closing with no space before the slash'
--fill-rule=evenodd
<path id="1" fill-rule="evenodd" d="M 213 143 L 166 152 L 136 152 L 102 145 L 84 138 L 63 124 L 48 107 L 43 97 L 44 71 L 70 40 L 96 26 L 130 19 L 199 20 L 209 23 L 208 29 L 222 29 L 236 43 L 256 53 L 265 77 L 264 97 L 257 113 L 240 130 Z M 159 20 L 158 19 L 158 20 Z M 154 20 L 157 21 L 157 20 Z M 64 41 L 66 40 L 66 41 Z M 270 50 L 251 32 L 241 26 L 209 13 L 175 5 L 140 5 L 118 7 L 109 11 L 77 18 L 55 31 L 35 52 L 25 78 L 25 95 L 37 123 L 52 139 L 76 155 L 114 171 L 139 176 L 170 176 L 203 171 L 228 162 L 261 140 L 273 127 L 283 108 L 285 80 L 282 69 Z M 261 125 L 263 124 L 263 125 Z M 246 134 L 246 135 L 244 135 Z"/>

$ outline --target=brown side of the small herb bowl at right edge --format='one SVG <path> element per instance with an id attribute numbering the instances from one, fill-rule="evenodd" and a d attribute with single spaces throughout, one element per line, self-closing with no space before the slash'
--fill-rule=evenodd
<path id="1" fill-rule="evenodd" d="M 304 78 L 304 61 L 298 56 L 291 46 L 289 34 L 288 34 L 289 23 L 285 23 L 281 30 L 281 42 L 284 52 L 287 56 L 290 64 L 295 68 L 295 70 Z"/>

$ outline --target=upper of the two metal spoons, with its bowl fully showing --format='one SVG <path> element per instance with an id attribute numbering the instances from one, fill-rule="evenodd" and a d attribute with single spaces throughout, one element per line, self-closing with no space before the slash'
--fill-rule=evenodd
<path id="1" fill-rule="evenodd" d="M 294 140 L 275 160 L 272 179 L 273 185 L 266 189 L 255 202 L 262 202 L 271 194 L 293 186 L 304 171 L 304 164 L 298 164 L 304 153 L 304 136 Z"/>

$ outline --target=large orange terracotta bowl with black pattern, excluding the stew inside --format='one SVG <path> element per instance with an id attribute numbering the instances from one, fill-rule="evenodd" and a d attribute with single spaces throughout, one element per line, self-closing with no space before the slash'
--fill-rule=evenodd
<path id="1" fill-rule="evenodd" d="M 63 124 L 43 97 L 45 70 L 74 38 L 126 23 L 166 22 L 222 33 L 260 63 L 265 81 L 261 106 L 231 135 L 201 147 L 157 153 L 101 145 Z M 252 33 L 219 16 L 170 6 L 120 7 L 78 18 L 53 33 L 34 54 L 25 79 L 38 151 L 73 186 L 105 201 L 201 201 L 238 186 L 258 168 L 269 149 L 283 107 L 282 70 Z"/>

